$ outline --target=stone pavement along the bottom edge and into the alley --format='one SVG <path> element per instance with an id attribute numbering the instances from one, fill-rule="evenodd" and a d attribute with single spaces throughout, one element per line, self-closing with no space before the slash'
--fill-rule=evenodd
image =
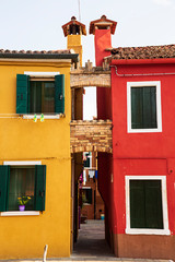
<path id="1" fill-rule="evenodd" d="M 49 247 L 48 247 L 49 249 Z M 42 262 L 43 260 L 0 260 L 0 262 Z M 172 260 L 150 260 L 150 259 L 125 259 L 116 258 L 112 253 L 105 241 L 104 221 L 88 221 L 81 224 L 79 239 L 74 245 L 73 253 L 70 258 L 47 259 L 50 262 L 172 262 Z"/>

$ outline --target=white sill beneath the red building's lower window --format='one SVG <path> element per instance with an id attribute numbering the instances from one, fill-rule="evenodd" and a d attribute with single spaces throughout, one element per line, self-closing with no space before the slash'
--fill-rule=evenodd
<path id="1" fill-rule="evenodd" d="M 171 231 L 170 231 L 170 229 L 126 228 L 126 234 L 129 234 L 129 235 L 171 235 Z"/>

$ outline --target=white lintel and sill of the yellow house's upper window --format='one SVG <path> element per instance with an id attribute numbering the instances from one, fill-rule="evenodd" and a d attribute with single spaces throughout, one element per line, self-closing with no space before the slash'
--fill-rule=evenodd
<path id="1" fill-rule="evenodd" d="M 32 72 L 32 71 L 24 71 L 24 74 L 30 75 L 31 78 L 55 78 L 55 75 L 60 74 L 60 72 Z M 24 114 L 23 119 L 34 119 L 34 116 L 36 115 L 37 119 L 40 119 L 42 114 Z M 62 114 L 50 114 L 50 115 L 44 115 L 45 119 L 60 119 L 62 117 Z"/>

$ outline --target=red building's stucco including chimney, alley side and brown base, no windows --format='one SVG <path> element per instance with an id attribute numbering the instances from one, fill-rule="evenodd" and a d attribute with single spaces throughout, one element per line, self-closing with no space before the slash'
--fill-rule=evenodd
<path id="1" fill-rule="evenodd" d="M 109 29 L 96 29 L 96 66 L 110 55 L 105 51 L 110 46 Z M 141 75 L 118 76 L 116 71 Z M 171 73 L 175 59 L 113 60 L 112 91 L 97 88 L 97 117 L 113 119 L 114 126 L 113 156 L 98 154 L 98 186 L 106 205 L 106 235 L 118 257 L 175 259 L 174 249 L 168 250 L 175 241 L 175 74 Z M 161 82 L 162 132 L 128 133 L 127 82 L 143 81 Z M 171 236 L 126 235 L 125 176 L 166 176 Z"/>

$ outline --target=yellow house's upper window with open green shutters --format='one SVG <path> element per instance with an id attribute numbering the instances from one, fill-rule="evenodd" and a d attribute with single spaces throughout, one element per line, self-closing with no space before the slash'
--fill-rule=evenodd
<path id="1" fill-rule="evenodd" d="M 33 78 L 16 75 L 16 114 L 63 114 L 65 75 Z"/>

